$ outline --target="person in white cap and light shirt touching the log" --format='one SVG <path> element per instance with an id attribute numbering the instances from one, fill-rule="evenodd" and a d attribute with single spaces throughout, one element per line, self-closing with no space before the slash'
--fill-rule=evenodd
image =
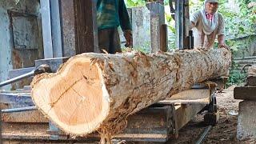
<path id="1" fill-rule="evenodd" d="M 194 30 L 195 48 L 214 48 L 215 38 L 218 37 L 218 47 L 228 49 L 225 44 L 224 18 L 217 10 L 218 0 L 205 0 L 202 10 L 190 17 L 190 29 Z"/>

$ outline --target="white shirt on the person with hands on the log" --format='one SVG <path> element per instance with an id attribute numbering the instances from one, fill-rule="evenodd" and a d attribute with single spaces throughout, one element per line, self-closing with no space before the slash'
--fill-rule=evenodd
<path id="1" fill-rule="evenodd" d="M 222 14 L 218 14 L 218 26 L 211 34 L 204 34 L 202 30 L 202 13 L 198 11 L 190 17 L 190 30 L 194 31 L 194 47 L 195 48 L 214 48 L 216 35 L 224 34 L 224 19 Z M 193 24 L 194 23 L 194 24 Z M 204 42 L 202 42 L 204 41 Z"/>

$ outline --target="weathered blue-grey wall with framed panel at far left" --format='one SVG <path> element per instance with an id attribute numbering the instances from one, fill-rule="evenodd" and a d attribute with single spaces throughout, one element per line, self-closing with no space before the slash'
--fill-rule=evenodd
<path id="1" fill-rule="evenodd" d="M 34 66 L 34 59 L 43 58 L 42 50 L 38 0 L 0 0 L 0 82 L 9 70 Z"/>

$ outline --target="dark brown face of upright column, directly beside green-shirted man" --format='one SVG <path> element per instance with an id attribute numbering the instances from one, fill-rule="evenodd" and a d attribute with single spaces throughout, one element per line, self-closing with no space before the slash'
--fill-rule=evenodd
<path id="1" fill-rule="evenodd" d="M 99 52 L 96 1 L 75 0 L 76 54 Z"/>

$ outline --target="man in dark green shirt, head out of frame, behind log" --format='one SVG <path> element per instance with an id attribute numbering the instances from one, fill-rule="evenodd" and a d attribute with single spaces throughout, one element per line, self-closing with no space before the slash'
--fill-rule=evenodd
<path id="1" fill-rule="evenodd" d="M 122 52 L 118 26 L 126 38 L 126 46 L 132 46 L 132 29 L 124 0 L 98 0 L 98 46 L 109 54 Z"/>

